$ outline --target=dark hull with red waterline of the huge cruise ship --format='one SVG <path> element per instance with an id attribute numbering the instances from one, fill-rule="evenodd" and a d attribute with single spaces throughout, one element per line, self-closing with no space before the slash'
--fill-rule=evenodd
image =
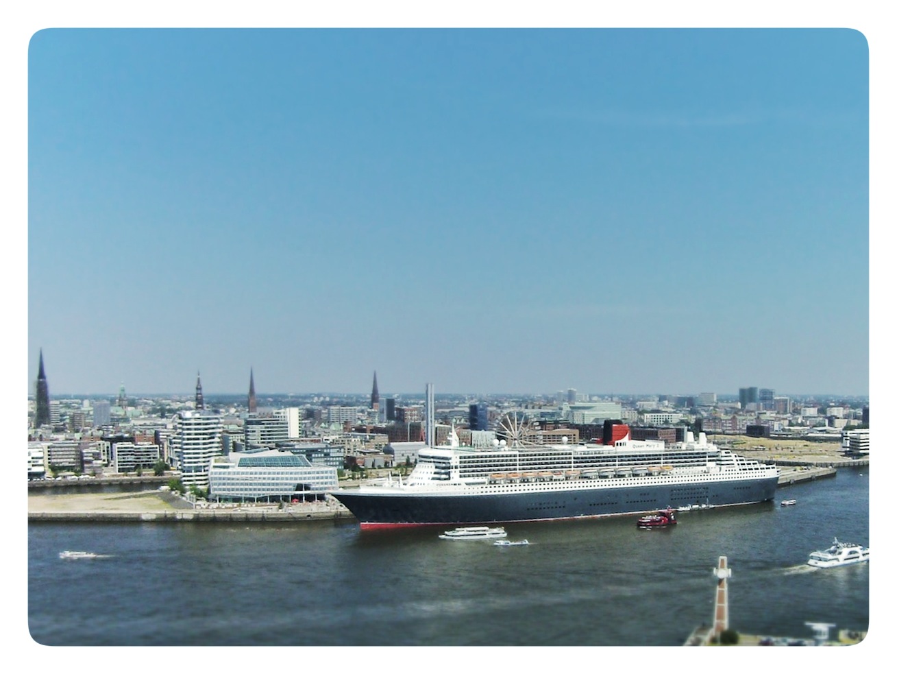
<path id="1" fill-rule="evenodd" d="M 340 490 L 333 495 L 361 522 L 361 529 L 572 520 L 635 514 L 688 505 L 742 505 L 771 501 L 777 477 L 581 489 L 506 491 L 488 494 L 372 493 Z"/>

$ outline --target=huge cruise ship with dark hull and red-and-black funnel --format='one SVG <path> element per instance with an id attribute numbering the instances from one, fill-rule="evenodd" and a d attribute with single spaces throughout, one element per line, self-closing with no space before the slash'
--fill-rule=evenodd
<path id="1" fill-rule="evenodd" d="M 631 440 L 606 423 L 601 443 L 481 450 L 448 443 L 418 453 L 405 479 L 331 494 L 362 530 L 394 527 L 574 520 L 662 508 L 771 501 L 779 468 L 695 439 L 666 445 Z"/>

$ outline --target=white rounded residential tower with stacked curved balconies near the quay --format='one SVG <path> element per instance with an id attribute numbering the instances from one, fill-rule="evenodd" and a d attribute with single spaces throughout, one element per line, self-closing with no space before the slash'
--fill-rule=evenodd
<path id="1" fill-rule="evenodd" d="M 184 486 L 209 486 L 209 467 L 222 453 L 222 417 L 201 410 L 183 410 L 174 416 L 169 438 L 174 468 L 181 471 Z"/>

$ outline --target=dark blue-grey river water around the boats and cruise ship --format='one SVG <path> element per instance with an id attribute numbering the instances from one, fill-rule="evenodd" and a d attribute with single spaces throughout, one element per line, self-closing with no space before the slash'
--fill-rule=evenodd
<path id="1" fill-rule="evenodd" d="M 869 545 L 868 485 L 868 467 L 840 469 L 666 530 L 507 526 L 521 547 L 345 521 L 32 522 L 28 625 L 44 645 L 681 645 L 710 623 L 727 556 L 737 631 L 867 630 L 870 565 L 805 563 L 835 536 Z"/>

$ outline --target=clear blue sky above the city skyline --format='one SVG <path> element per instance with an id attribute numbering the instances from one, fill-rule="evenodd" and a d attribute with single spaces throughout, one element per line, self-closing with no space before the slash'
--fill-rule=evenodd
<path id="1" fill-rule="evenodd" d="M 850 30 L 48 30 L 28 385 L 869 388 Z"/>

